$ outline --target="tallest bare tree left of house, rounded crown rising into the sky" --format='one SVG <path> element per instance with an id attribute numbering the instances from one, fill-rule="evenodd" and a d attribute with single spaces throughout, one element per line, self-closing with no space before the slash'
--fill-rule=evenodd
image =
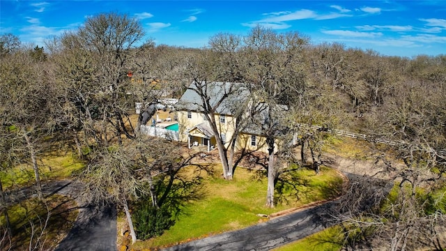
<path id="1" fill-rule="evenodd" d="M 65 121 L 76 141 L 81 130 L 87 145 L 92 139 L 96 146 L 107 146 L 111 140 L 121 142 L 121 135 L 134 137 L 125 126 L 134 105 L 127 94 L 132 91 L 128 71 L 136 70 L 131 69 L 129 57 L 143 36 L 136 20 L 102 13 L 49 44 L 57 83 L 66 91 L 60 107 L 66 111 Z"/>

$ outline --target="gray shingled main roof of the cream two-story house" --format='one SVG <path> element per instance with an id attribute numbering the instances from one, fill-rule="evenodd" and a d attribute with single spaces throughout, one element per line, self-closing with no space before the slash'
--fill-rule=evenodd
<path id="1" fill-rule="evenodd" d="M 200 90 L 201 89 L 201 90 Z M 231 115 L 249 96 L 249 91 L 242 83 L 229 82 L 192 82 L 176 104 L 176 109 L 203 112 L 200 92 L 206 93 L 211 107 L 217 105 L 225 95 L 224 101 L 215 109 L 217 114 Z"/>

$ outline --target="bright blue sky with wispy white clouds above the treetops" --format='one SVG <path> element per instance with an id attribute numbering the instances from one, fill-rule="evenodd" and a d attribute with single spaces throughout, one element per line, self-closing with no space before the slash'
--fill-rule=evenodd
<path id="1" fill-rule="evenodd" d="M 261 24 L 299 31 L 311 43 L 344 43 L 382 55 L 446 54 L 446 0 L 439 1 L 21 1 L 0 0 L 0 33 L 45 39 L 115 11 L 141 21 L 157 45 L 203 47 L 219 32 L 245 35 Z"/>

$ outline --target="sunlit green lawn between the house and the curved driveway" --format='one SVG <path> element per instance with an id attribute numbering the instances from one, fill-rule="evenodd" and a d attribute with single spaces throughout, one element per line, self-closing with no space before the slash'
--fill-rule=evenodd
<path id="1" fill-rule="evenodd" d="M 216 165 L 220 171 L 220 165 Z M 220 172 L 215 172 L 220 174 Z M 208 176 L 203 184 L 206 199 L 194 201 L 185 208 L 171 229 L 158 238 L 139 241 L 132 248 L 142 250 L 173 245 L 202 238 L 224 231 L 242 229 L 266 218 L 259 218 L 258 213 L 270 214 L 289 208 L 305 205 L 332 197 L 341 190 L 341 176 L 333 169 L 321 168 L 316 175 L 312 170 L 301 170 L 299 174 L 307 179 L 307 187 L 300 186 L 300 199 L 288 196 L 287 203 L 276 208 L 266 208 L 266 178 L 257 181 L 254 172 L 238 168 L 233 181 L 225 181 L 220 176 Z"/>

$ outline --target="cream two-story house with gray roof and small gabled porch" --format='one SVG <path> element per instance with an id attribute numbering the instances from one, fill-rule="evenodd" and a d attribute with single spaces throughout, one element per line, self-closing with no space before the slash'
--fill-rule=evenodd
<path id="1" fill-rule="evenodd" d="M 249 91 L 245 84 L 229 82 L 192 82 L 176 104 L 180 142 L 189 147 L 216 147 L 216 139 L 206 112 L 212 111 L 222 143 L 228 148 L 229 140 L 241 128 L 236 139 L 236 151 L 249 149 L 268 152 L 265 138 L 249 125 Z M 255 115 L 254 115 L 255 116 Z M 243 125 L 240 125 L 243 120 Z M 277 147 L 275 147 L 277 149 Z"/>

